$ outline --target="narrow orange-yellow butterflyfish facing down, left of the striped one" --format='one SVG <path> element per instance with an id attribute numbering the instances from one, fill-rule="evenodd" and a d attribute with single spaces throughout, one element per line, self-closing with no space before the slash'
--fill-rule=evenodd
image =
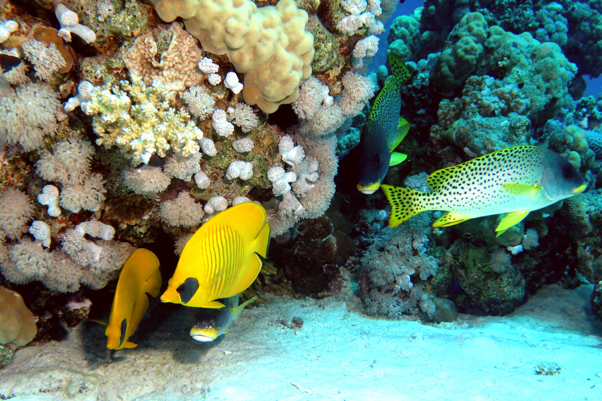
<path id="1" fill-rule="evenodd" d="M 149 306 L 146 293 L 156 297 L 160 288 L 161 273 L 157 255 L 148 249 L 136 249 L 119 275 L 109 324 L 105 330 L 107 348 L 134 348 L 138 345 L 128 341 L 128 338 L 134 334 Z"/>

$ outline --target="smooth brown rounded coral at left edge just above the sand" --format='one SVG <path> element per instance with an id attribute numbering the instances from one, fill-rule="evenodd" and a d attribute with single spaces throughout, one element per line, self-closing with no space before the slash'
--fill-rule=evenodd
<path id="1" fill-rule="evenodd" d="M 36 334 L 34 314 L 20 294 L 0 287 L 0 344 L 14 343 L 22 347 Z"/>

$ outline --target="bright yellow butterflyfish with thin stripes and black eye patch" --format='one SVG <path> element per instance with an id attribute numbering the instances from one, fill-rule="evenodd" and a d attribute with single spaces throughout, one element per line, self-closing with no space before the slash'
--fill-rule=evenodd
<path id="1" fill-rule="evenodd" d="M 163 302 L 196 308 L 223 308 L 219 298 L 246 290 L 261 270 L 270 241 L 265 209 L 246 202 L 203 224 L 188 240 Z"/>

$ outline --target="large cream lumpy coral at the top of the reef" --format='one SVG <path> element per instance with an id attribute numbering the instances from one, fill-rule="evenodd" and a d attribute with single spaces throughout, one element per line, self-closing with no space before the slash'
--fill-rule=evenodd
<path id="1" fill-rule="evenodd" d="M 265 113 L 294 102 L 299 84 L 311 75 L 314 36 L 305 31 L 308 14 L 293 0 L 257 7 L 250 0 L 153 0 L 166 21 L 184 18 L 203 49 L 226 54 L 246 73 L 243 97 Z"/>

